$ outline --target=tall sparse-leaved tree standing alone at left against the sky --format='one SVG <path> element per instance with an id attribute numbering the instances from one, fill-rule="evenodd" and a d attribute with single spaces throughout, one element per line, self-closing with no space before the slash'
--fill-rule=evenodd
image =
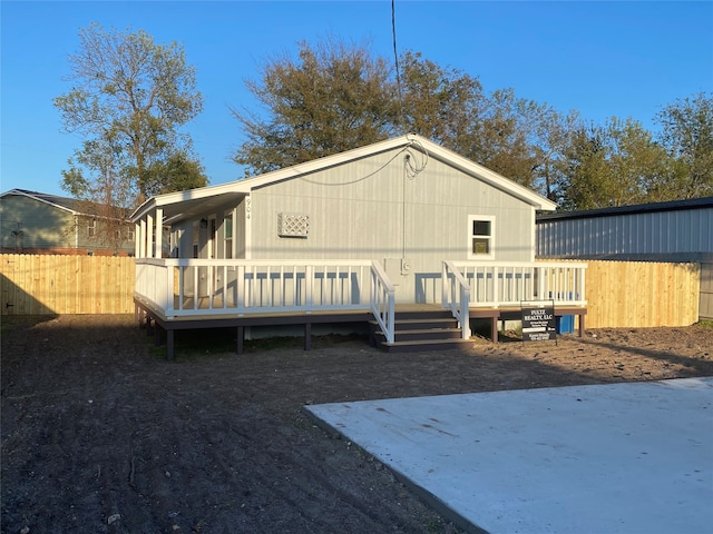
<path id="1" fill-rule="evenodd" d="M 156 192 L 206 185 L 202 174 L 167 184 L 158 172 L 172 158 L 191 154 L 191 138 L 179 128 L 203 106 L 183 47 L 97 23 L 80 30 L 79 39 L 79 51 L 69 57 L 72 88 L 55 106 L 64 130 L 87 139 L 69 159 L 62 188 L 131 207 Z"/>

